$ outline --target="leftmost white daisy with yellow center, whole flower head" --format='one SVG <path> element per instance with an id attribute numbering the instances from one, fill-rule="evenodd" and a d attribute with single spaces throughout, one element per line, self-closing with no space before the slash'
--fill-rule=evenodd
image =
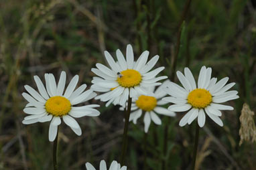
<path id="1" fill-rule="evenodd" d="M 25 85 L 25 90 L 27 90 L 29 94 L 23 92 L 22 96 L 29 103 L 25 106 L 23 112 L 31 115 L 24 118 L 22 121 L 23 124 L 51 121 L 49 141 L 54 141 L 57 135 L 58 125 L 61 123 L 60 118 L 62 118 L 76 135 L 81 135 L 82 131 L 80 126 L 74 118 L 80 118 L 82 116 L 99 116 L 100 112 L 94 109 L 94 107 L 99 107 L 99 105 L 74 105 L 86 102 L 87 100 L 94 98 L 97 94 L 92 90 L 84 91 L 86 84 L 82 84 L 82 86 L 74 90 L 78 83 L 78 75 L 72 78 L 65 92 L 66 72 L 60 74 L 58 86 L 56 85 L 56 80 L 53 74 L 44 74 L 44 77 L 46 79 L 46 88 L 40 78 L 34 76 L 39 93 L 34 90 L 34 88 Z"/>

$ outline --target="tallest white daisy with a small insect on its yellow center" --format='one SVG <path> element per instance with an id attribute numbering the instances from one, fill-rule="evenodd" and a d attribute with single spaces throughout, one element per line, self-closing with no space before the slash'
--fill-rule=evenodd
<path id="1" fill-rule="evenodd" d="M 117 62 L 113 60 L 111 54 L 105 51 L 105 58 L 111 68 L 103 64 L 96 64 L 97 68 L 92 68 L 92 72 L 99 77 L 92 80 L 92 89 L 96 92 L 103 92 L 95 99 L 107 102 L 107 106 L 112 102 L 122 106 L 131 98 L 139 94 L 147 95 L 145 88 L 149 86 L 161 85 L 159 80 L 166 79 L 167 76 L 155 78 L 164 67 L 150 71 L 155 66 L 159 56 L 154 56 L 147 62 L 149 52 L 145 51 L 139 56 L 137 62 L 134 61 L 133 48 L 131 45 L 126 49 L 126 60 L 120 50 L 117 50 Z M 150 71 L 150 72 L 149 72 Z"/>

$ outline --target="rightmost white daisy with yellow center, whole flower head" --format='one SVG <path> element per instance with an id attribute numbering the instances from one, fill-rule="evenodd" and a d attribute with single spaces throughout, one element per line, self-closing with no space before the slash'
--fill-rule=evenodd
<path id="1" fill-rule="evenodd" d="M 189 110 L 180 120 L 180 126 L 190 124 L 195 118 L 198 118 L 198 125 L 204 126 L 205 113 L 219 126 L 223 126 L 220 110 L 233 110 L 232 106 L 220 104 L 239 98 L 236 90 L 231 90 L 235 83 L 227 84 L 229 78 L 222 78 L 216 82 L 216 78 L 211 78 L 212 69 L 203 66 L 198 77 L 198 86 L 194 76 L 188 68 L 184 69 L 185 76 L 181 72 L 177 72 L 178 79 L 182 86 L 178 86 L 173 82 L 169 82 L 166 92 L 171 97 L 163 98 L 162 100 L 172 102 L 169 110 L 174 112 L 184 112 Z M 225 85 L 227 84 L 227 85 Z"/>

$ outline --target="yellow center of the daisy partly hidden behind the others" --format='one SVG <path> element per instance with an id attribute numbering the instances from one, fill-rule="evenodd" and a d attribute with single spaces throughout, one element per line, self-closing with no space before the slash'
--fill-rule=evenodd
<path id="1" fill-rule="evenodd" d="M 138 108 L 141 108 L 144 111 L 151 111 L 155 108 L 157 100 L 153 96 L 139 96 L 138 100 L 136 101 L 136 105 Z"/>

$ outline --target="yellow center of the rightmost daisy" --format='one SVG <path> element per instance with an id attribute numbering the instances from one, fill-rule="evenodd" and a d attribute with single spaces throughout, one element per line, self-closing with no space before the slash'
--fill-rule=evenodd
<path id="1" fill-rule="evenodd" d="M 205 108 L 212 102 L 212 95 L 208 90 L 196 88 L 188 94 L 188 103 L 194 108 Z"/>

